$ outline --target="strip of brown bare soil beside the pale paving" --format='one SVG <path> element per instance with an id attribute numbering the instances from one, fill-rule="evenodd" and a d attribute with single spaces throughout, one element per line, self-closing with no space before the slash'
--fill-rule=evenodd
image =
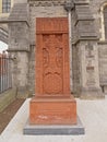
<path id="1" fill-rule="evenodd" d="M 11 103 L 2 113 L 0 113 L 0 133 L 8 126 L 10 120 L 16 114 L 19 108 L 22 106 L 25 99 L 19 98 Z"/>

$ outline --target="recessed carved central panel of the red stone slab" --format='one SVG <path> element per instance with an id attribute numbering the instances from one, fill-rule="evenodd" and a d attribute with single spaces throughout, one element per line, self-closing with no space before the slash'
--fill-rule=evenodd
<path id="1" fill-rule="evenodd" d="M 44 35 L 43 39 L 44 94 L 60 94 L 62 93 L 62 35 Z"/>

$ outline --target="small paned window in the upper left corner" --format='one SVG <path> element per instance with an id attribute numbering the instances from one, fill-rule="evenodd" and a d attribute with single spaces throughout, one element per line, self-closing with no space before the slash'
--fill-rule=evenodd
<path id="1" fill-rule="evenodd" d="M 11 9 L 11 0 L 2 0 L 2 13 L 9 13 Z"/>

